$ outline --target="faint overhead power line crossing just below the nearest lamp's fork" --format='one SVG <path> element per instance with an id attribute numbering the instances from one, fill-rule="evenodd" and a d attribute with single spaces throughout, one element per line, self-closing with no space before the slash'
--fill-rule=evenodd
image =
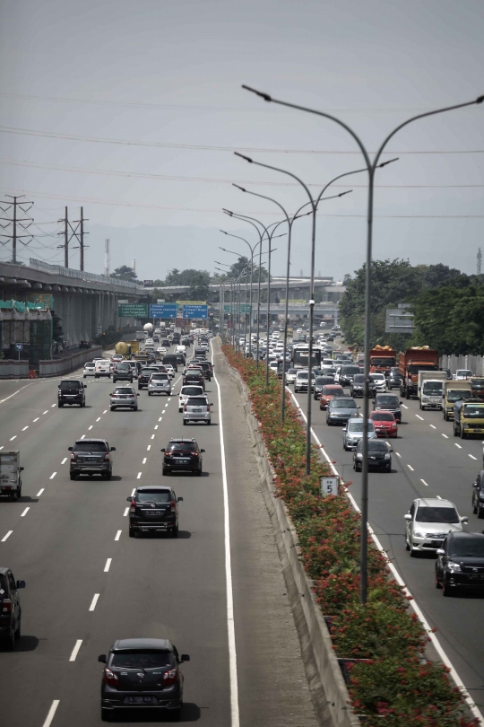
<path id="1" fill-rule="evenodd" d="M 175 181 L 190 181 L 190 182 L 208 182 L 212 184 L 233 184 L 234 181 L 237 184 L 254 184 L 260 186 L 271 186 L 271 187 L 299 187 L 298 182 L 280 182 L 280 181 L 255 181 L 255 180 L 228 180 L 228 179 L 217 179 L 210 177 L 184 177 L 177 176 L 174 174 L 151 174 L 140 171 L 118 171 L 118 170 L 96 170 L 86 169 L 82 167 L 65 167 L 59 164 L 41 164 L 39 162 L 27 162 L 24 160 L 13 160 L 13 159 L 0 159 L 2 164 L 12 164 L 13 166 L 27 166 L 36 169 L 53 169 L 56 171 L 73 171 L 82 174 L 96 174 L 101 176 L 114 176 L 114 177 L 127 177 L 145 179 L 145 180 L 175 180 Z M 310 182 L 308 187 L 321 187 L 319 182 Z M 348 188 L 348 185 L 333 184 L 333 187 Z M 353 188 L 367 188 L 366 184 L 352 184 Z M 453 188 L 483 188 L 484 184 L 376 184 L 375 187 L 382 189 L 453 189 Z M 47 223 L 42 223 L 47 224 Z"/>

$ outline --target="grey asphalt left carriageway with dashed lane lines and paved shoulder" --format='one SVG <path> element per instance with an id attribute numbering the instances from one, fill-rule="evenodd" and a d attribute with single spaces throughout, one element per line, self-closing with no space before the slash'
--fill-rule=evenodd
<path id="1" fill-rule="evenodd" d="M 99 653 L 117 638 L 154 636 L 171 638 L 191 656 L 183 666 L 182 722 L 315 727 L 238 391 L 215 349 L 220 399 L 212 380 L 210 427 L 182 426 L 177 398 L 148 398 L 146 390 L 137 413 L 110 412 L 113 385 L 104 379 L 85 380 L 85 408 L 62 409 L 59 380 L 0 382 L 0 446 L 19 449 L 25 467 L 22 499 L 0 498 L 0 565 L 27 583 L 20 591 L 22 638 L 13 652 L 0 647 L 3 724 L 100 724 Z M 82 436 L 117 448 L 110 481 L 69 479 L 67 447 Z M 206 450 L 203 477 L 161 477 L 160 447 L 172 436 L 193 436 Z M 184 497 L 178 539 L 128 539 L 126 497 L 137 485 L 164 481 Z M 228 638 L 227 542 L 235 648 Z M 237 659 L 232 677 L 230 658 Z M 135 712 L 128 719 L 149 720 Z"/>

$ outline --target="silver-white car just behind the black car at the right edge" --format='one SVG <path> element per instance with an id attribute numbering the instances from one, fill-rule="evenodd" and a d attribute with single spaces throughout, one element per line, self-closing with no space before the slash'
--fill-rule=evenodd
<path id="1" fill-rule="evenodd" d="M 469 518 L 461 517 L 450 500 L 419 497 L 405 518 L 405 547 L 411 556 L 436 552 L 449 532 L 463 530 Z"/>

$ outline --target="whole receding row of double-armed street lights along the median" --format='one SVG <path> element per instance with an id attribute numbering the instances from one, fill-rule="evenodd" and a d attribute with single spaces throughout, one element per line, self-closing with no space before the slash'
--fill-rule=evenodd
<path id="1" fill-rule="evenodd" d="M 324 199 L 334 198 L 334 197 L 323 197 L 325 190 L 330 187 L 333 182 L 336 180 L 340 180 L 342 177 L 349 176 L 350 174 L 359 174 L 361 172 L 366 171 L 368 175 L 368 191 L 367 191 L 367 255 L 366 255 L 366 285 L 365 285 L 365 337 L 364 337 L 364 351 L 369 351 L 370 348 L 370 324 L 371 324 L 371 263 L 372 263 L 372 244 L 373 244 L 373 210 L 374 210 L 374 188 L 375 188 L 375 175 L 376 170 L 379 168 L 382 168 L 386 166 L 387 164 L 390 164 L 392 162 L 396 162 L 396 159 L 391 159 L 386 162 L 380 162 L 380 159 L 382 157 L 382 154 L 385 151 L 386 145 L 390 142 L 391 139 L 393 139 L 393 136 L 397 134 L 398 131 L 400 131 L 403 127 L 407 127 L 409 124 L 411 124 L 413 121 L 417 121 L 420 118 L 427 118 L 429 116 L 436 116 L 436 114 L 445 113 L 446 111 L 452 111 L 455 109 L 463 109 L 467 106 L 473 106 L 475 104 L 480 104 L 482 101 L 484 101 L 484 96 L 480 96 L 474 101 L 468 101 L 466 103 L 460 103 L 456 104 L 454 106 L 447 106 L 442 109 L 435 109 L 433 111 L 427 111 L 425 113 L 419 114 L 417 116 L 414 116 L 412 118 L 407 119 L 406 121 L 402 122 L 399 126 L 395 127 L 393 131 L 385 137 L 382 144 L 377 149 L 373 159 L 370 158 L 370 153 L 367 152 L 366 146 L 363 144 L 359 136 L 356 134 L 356 132 L 348 126 L 346 123 L 341 121 L 340 118 L 337 118 L 333 116 L 333 114 L 326 113 L 325 111 L 319 111 L 316 109 L 310 109 L 304 106 L 298 106 L 297 104 L 290 103 L 287 101 L 281 101 L 279 99 L 273 99 L 271 95 L 268 93 L 260 92 L 255 90 L 254 88 L 250 88 L 249 86 L 243 85 L 242 88 L 246 89 L 246 91 L 253 92 L 255 95 L 259 96 L 260 98 L 264 99 L 264 101 L 276 103 L 280 106 L 285 106 L 290 109 L 297 109 L 299 111 L 305 111 L 310 114 L 315 114 L 317 116 L 321 116 L 323 118 L 327 118 L 334 123 L 338 124 L 341 128 L 343 128 L 350 136 L 353 138 L 353 140 L 356 142 L 356 144 L 359 147 L 359 151 L 362 153 L 362 156 L 365 161 L 365 166 L 363 169 L 355 170 L 355 171 L 348 171 L 345 172 L 338 177 L 335 177 L 333 180 L 328 182 L 318 197 L 313 197 L 309 188 L 307 185 L 300 180 L 295 174 L 293 174 L 290 171 L 282 170 L 277 167 L 272 167 L 268 164 L 263 164 L 261 162 L 255 162 L 250 157 L 247 157 L 243 154 L 237 153 L 236 155 L 241 157 L 242 159 L 246 160 L 246 162 L 249 162 L 251 164 L 255 164 L 256 166 L 264 167 L 265 169 L 269 169 L 272 171 L 281 172 L 282 174 L 289 175 L 292 179 L 297 180 L 298 183 L 302 188 L 305 189 L 307 193 L 307 197 L 309 198 L 309 202 L 305 206 L 310 206 L 311 211 L 310 215 L 312 215 L 312 232 L 311 232 L 311 263 L 310 263 L 310 291 L 309 291 L 309 358 L 308 358 L 308 387 L 307 387 L 307 441 L 306 441 L 306 472 L 307 475 L 311 472 L 311 405 L 312 405 L 312 396 L 311 396 L 311 370 L 312 370 L 312 338 L 313 338 L 313 325 L 314 325 L 314 306 L 315 306 L 315 221 L 316 221 L 316 212 L 317 207 L 321 201 Z M 238 187 L 238 185 L 235 185 Z M 286 276 L 286 305 L 285 305 L 285 319 L 284 319 L 284 363 L 282 366 L 282 390 L 281 390 L 281 419 L 283 421 L 284 419 L 284 411 L 285 411 L 285 383 L 286 383 L 286 376 L 285 376 L 285 352 L 286 352 L 286 346 L 287 346 L 287 328 L 288 328 L 288 313 L 289 313 L 289 278 L 290 278 L 290 242 L 291 242 L 291 232 L 292 232 L 292 224 L 296 219 L 298 219 L 299 212 L 301 211 L 302 207 L 299 208 L 298 212 L 290 218 L 290 215 L 287 214 L 286 210 L 284 209 L 281 204 L 271 197 L 264 197 L 263 195 L 257 195 L 255 192 L 248 192 L 246 189 L 238 187 L 241 189 L 241 191 L 246 192 L 247 194 L 255 195 L 255 197 L 262 197 L 264 199 L 268 199 L 269 201 L 273 202 L 275 205 L 279 206 L 285 219 L 281 222 L 286 222 L 288 224 L 288 262 L 287 262 L 287 276 Z M 350 190 L 348 190 L 349 192 Z M 343 192 L 341 195 L 337 195 L 335 197 L 341 197 L 343 194 L 348 194 L 348 192 Z M 257 355 L 257 366 L 259 365 L 259 332 L 260 332 L 260 284 L 261 284 L 261 257 L 262 257 L 262 247 L 263 247 L 263 239 L 264 236 L 267 237 L 269 241 L 269 248 L 271 248 L 271 242 L 270 242 L 270 233 L 268 232 L 268 228 L 265 227 L 263 223 L 256 220 L 254 217 L 248 217 L 247 215 L 239 215 L 233 212 L 230 212 L 229 210 L 224 209 L 224 213 L 230 215 L 231 217 L 239 220 L 244 220 L 248 223 L 251 223 L 255 230 L 258 233 L 259 236 L 259 242 L 257 244 L 260 245 L 259 247 L 259 279 L 258 279 L 258 297 L 257 297 L 257 347 L 256 347 L 256 355 Z M 275 226 L 278 226 L 279 223 L 274 223 Z M 272 225 L 270 225 L 271 227 Z M 264 232 L 261 232 L 261 229 Z M 226 233 L 229 234 L 229 233 Z M 249 245 L 249 243 L 246 243 Z M 255 245 L 256 247 L 256 245 Z M 250 245 L 249 245 L 250 248 Z M 255 249 L 255 248 L 254 248 Z M 252 250 L 252 249 L 251 249 Z M 252 261 L 253 261 L 254 255 L 252 254 L 251 258 L 251 272 L 252 272 Z M 269 257 L 270 260 L 270 257 Z M 270 262 L 269 262 L 270 265 Z M 269 322 L 270 322 L 270 284 L 268 286 L 268 306 L 267 306 L 267 329 L 269 329 Z M 252 276 L 251 276 L 251 303 L 252 303 Z M 223 320 L 223 317 L 220 317 L 220 320 Z M 250 321 L 251 321 L 251 327 L 250 327 L 250 334 L 249 334 L 249 348 L 252 342 L 252 305 L 250 307 Z M 266 356 L 266 371 L 268 367 L 268 359 Z M 267 375 L 267 373 L 266 373 Z M 367 602 L 367 520 L 368 520 L 368 445 L 367 445 L 367 435 L 368 435 L 368 417 L 369 417 L 369 396 L 370 396 L 370 388 L 369 388 L 369 360 L 368 356 L 365 356 L 365 364 L 364 364 L 364 375 L 365 375 L 365 391 L 364 391 L 364 397 L 363 397 L 363 462 L 362 462 L 362 495 L 361 495 L 361 552 L 360 552 L 360 601 L 362 603 Z M 268 381 L 266 379 L 266 381 Z"/>

